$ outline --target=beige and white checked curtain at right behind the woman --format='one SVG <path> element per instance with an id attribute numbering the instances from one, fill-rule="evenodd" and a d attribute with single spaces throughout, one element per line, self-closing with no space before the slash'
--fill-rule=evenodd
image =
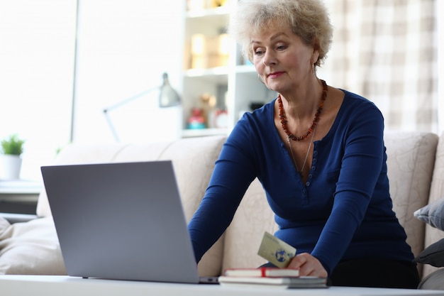
<path id="1" fill-rule="evenodd" d="M 435 0 L 326 4 L 335 28 L 320 76 L 374 102 L 386 129 L 438 132 Z"/>

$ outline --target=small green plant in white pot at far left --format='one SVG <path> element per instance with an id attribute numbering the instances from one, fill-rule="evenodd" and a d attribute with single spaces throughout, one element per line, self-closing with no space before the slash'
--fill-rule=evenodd
<path id="1" fill-rule="evenodd" d="M 0 180 L 14 180 L 20 177 L 21 154 L 25 141 L 17 134 L 4 138 L 1 142 Z"/>

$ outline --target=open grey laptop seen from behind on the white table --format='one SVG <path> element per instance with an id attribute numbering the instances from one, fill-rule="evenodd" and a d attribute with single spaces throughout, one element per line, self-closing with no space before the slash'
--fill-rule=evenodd
<path id="1" fill-rule="evenodd" d="M 68 275 L 216 283 L 199 278 L 170 160 L 41 172 Z"/>

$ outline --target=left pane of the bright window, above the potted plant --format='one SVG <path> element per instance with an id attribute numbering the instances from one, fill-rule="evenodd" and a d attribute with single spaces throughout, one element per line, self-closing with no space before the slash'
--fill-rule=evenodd
<path id="1" fill-rule="evenodd" d="M 0 138 L 26 140 L 21 177 L 70 141 L 74 0 L 0 1 Z"/>

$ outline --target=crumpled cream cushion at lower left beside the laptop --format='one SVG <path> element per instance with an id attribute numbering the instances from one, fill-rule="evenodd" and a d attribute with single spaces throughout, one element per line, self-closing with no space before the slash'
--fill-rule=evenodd
<path id="1" fill-rule="evenodd" d="M 0 274 L 66 274 L 52 217 L 15 224 L 0 218 Z"/>

